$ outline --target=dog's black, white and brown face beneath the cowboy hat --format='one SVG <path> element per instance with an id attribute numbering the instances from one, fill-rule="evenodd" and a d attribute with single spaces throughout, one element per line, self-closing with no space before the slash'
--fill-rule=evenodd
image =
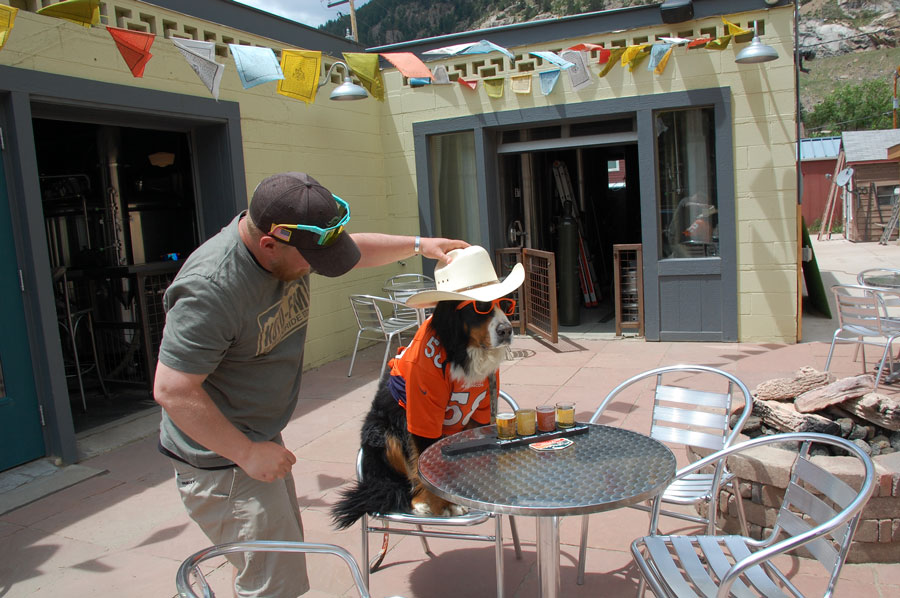
<path id="1" fill-rule="evenodd" d="M 513 329 L 506 314 L 490 303 L 471 303 L 457 309 L 459 301 L 441 301 L 435 307 L 431 326 L 447 352 L 450 374 L 457 380 L 481 382 L 500 367 L 512 343 Z"/>

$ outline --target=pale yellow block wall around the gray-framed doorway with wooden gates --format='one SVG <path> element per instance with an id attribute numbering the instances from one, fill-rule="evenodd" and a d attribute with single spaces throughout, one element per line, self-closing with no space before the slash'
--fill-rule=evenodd
<path id="1" fill-rule="evenodd" d="M 775 61 L 739 65 L 734 58 L 746 43 L 731 44 L 724 51 L 676 48 L 666 70 L 656 75 L 646 61 L 634 72 L 616 66 L 605 78 L 597 78 L 602 67 L 590 65 L 595 84 L 574 92 L 562 74 L 554 91 L 543 96 L 537 75 L 530 95 L 504 90 L 503 98 L 487 96 L 479 83 L 476 91 L 453 86 L 403 86 L 396 71 L 385 73 L 388 89 L 384 121 L 385 166 L 392 188 L 391 200 L 406 201 L 415 196 L 415 178 L 409 176 L 413 164 L 413 125 L 434 119 L 469 114 L 518 110 L 559 104 L 628 98 L 653 93 L 730 87 L 734 124 L 734 167 L 738 260 L 738 334 L 745 342 L 795 342 L 797 327 L 797 233 L 795 175 L 795 99 L 793 68 L 793 11 L 790 7 L 728 15 L 731 22 L 745 26 L 764 21 L 762 39 L 779 54 Z M 542 47 L 509 47 L 514 54 L 532 50 L 559 50 L 576 43 L 603 43 L 607 47 L 643 43 L 657 36 L 686 33 L 700 36 L 701 30 L 715 28 L 724 33 L 719 18 L 677 25 L 629 30 L 609 35 L 568 39 Z M 499 54 L 453 57 L 429 62 L 453 66 L 466 63 L 471 76 L 474 60 L 489 61 Z M 508 62 L 507 62 L 508 64 Z M 501 71 L 498 76 L 517 74 Z M 719 148 L 717 151 L 728 151 Z"/>

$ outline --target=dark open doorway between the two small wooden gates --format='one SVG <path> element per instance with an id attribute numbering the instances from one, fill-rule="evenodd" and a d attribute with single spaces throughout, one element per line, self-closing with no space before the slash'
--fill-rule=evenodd
<path id="1" fill-rule="evenodd" d="M 556 255 L 559 331 L 614 333 L 613 245 L 642 239 L 637 144 L 506 153 L 500 172 L 506 243 Z M 577 252 L 566 248 L 573 223 L 593 297 L 573 262 Z"/>

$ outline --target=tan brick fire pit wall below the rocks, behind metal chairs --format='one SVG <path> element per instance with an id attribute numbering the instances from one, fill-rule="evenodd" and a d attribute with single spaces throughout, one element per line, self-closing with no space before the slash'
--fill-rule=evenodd
<path id="1" fill-rule="evenodd" d="M 703 455 L 695 453 L 692 459 Z M 740 479 L 741 497 L 750 535 L 760 538 L 772 531 L 790 468 L 796 453 L 763 446 L 728 461 Z M 900 562 L 900 453 L 874 457 L 875 491 L 863 509 L 862 521 L 848 556 L 851 563 Z M 855 457 L 813 457 L 812 462 L 859 488 L 862 482 Z M 701 507 L 705 509 L 704 507 Z M 705 515 L 705 512 L 703 513 Z M 740 533 L 737 506 L 731 487 L 719 497 L 717 525 L 727 533 Z"/>

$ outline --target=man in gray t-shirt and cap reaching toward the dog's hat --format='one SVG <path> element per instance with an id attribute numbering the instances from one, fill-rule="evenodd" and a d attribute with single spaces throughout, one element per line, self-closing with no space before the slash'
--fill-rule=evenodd
<path id="1" fill-rule="evenodd" d="M 312 177 L 263 180 L 250 209 L 185 262 L 166 291 L 154 397 L 160 451 L 172 459 L 188 514 L 214 544 L 302 541 L 281 441 L 303 372 L 309 274 L 340 276 L 415 254 L 449 261 L 463 241 L 350 234 L 350 206 Z M 238 596 L 294 597 L 302 555 L 230 555 Z"/>

